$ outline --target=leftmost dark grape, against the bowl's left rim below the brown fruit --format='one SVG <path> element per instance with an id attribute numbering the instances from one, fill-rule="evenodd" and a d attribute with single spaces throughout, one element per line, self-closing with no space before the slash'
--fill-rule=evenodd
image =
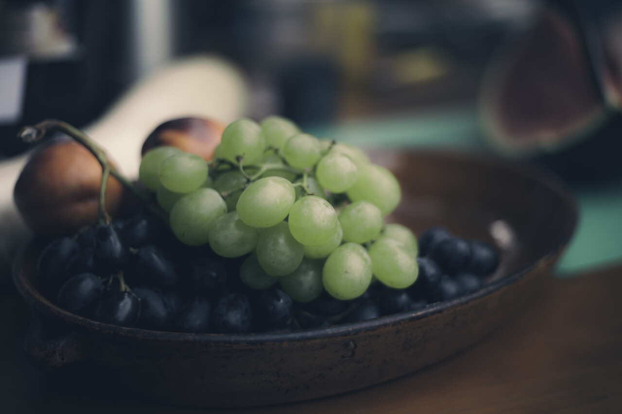
<path id="1" fill-rule="evenodd" d="M 51 287 L 58 287 L 65 282 L 65 267 L 79 251 L 80 246 L 69 237 L 51 241 L 39 255 L 37 271 L 41 280 Z"/>

